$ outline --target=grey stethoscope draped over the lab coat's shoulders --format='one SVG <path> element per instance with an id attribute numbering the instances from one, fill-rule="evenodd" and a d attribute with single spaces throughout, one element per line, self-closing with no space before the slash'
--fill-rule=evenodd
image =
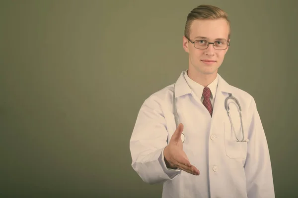
<path id="1" fill-rule="evenodd" d="M 235 134 L 235 137 L 236 137 L 236 142 L 247 142 L 244 140 L 244 129 L 243 129 L 243 122 L 242 122 L 242 109 L 241 109 L 241 105 L 238 101 L 238 99 L 236 99 L 235 97 L 232 96 L 232 94 L 228 94 L 229 96 L 224 100 L 224 107 L 226 109 L 226 112 L 227 112 L 227 115 L 228 115 L 228 118 L 230 120 L 230 123 L 231 123 L 231 126 L 232 126 L 232 130 Z M 239 111 L 239 116 L 240 116 L 240 121 L 241 121 L 241 129 L 242 129 L 242 140 L 239 140 L 237 135 L 236 135 L 236 132 L 235 132 L 235 129 L 234 129 L 234 125 L 232 123 L 232 120 L 231 120 L 231 117 L 230 117 L 230 112 L 229 112 L 229 104 L 227 104 L 227 100 L 228 99 L 232 99 L 233 101 L 236 102 L 237 106 L 238 106 L 238 111 Z M 174 84 L 174 91 L 173 91 L 173 113 L 174 113 L 174 118 L 175 118 L 175 123 L 176 123 L 176 128 L 178 128 L 178 124 L 179 124 L 179 121 L 178 121 L 178 113 L 177 113 L 177 108 L 176 108 L 176 98 L 175 98 L 175 84 Z M 185 141 L 185 136 L 184 134 L 182 133 L 181 134 L 181 140 L 182 140 L 182 143 L 184 143 Z"/>

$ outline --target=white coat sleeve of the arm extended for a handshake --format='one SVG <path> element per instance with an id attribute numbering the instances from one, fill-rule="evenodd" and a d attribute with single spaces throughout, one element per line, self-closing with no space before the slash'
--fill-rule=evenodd
<path id="1" fill-rule="evenodd" d="M 160 104 L 152 96 L 142 105 L 130 140 L 132 167 L 149 184 L 174 179 L 181 170 L 168 169 L 163 150 L 168 132 Z"/>

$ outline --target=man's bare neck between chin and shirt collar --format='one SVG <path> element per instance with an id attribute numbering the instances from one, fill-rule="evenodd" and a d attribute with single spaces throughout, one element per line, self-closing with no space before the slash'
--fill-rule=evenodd
<path id="1" fill-rule="evenodd" d="M 196 83 L 199 83 L 203 87 L 207 87 L 210 83 L 212 83 L 216 77 L 217 77 L 217 72 L 214 72 L 212 74 L 202 74 L 196 70 L 187 70 L 187 75 L 189 76 L 190 79 L 195 81 Z"/>

